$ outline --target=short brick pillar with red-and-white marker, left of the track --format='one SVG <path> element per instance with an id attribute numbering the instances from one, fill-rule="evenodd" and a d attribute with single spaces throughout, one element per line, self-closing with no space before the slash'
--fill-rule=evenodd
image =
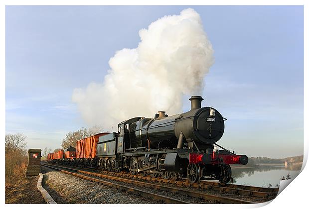
<path id="1" fill-rule="evenodd" d="M 28 150 L 28 165 L 26 176 L 37 176 L 41 172 L 41 150 L 29 149 Z"/>

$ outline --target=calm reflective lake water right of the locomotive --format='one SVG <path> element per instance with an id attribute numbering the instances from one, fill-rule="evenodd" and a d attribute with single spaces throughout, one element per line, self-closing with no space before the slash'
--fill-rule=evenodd
<path id="1" fill-rule="evenodd" d="M 280 178 L 290 177 L 294 179 L 300 173 L 302 164 L 297 165 L 260 165 L 255 168 L 246 168 L 241 166 L 231 166 L 232 168 L 232 184 L 249 185 L 257 187 L 272 187 L 280 185 Z"/>

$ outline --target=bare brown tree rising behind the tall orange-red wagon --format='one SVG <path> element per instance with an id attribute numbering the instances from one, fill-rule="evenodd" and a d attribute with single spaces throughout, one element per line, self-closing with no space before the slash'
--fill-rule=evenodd
<path id="1" fill-rule="evenodd" d="M 62 140 L 62 148 L 65 149 L 69 146 L 75 147 L 76 142 L 80 139 L 86 138 L 88 136 L 95 135 L 102 131 L 103 128 L 100 126 L 93 126 L 91 128 L 82 127 L 77 131 L 69 132 L 65 135 L 65 138 Z"/>

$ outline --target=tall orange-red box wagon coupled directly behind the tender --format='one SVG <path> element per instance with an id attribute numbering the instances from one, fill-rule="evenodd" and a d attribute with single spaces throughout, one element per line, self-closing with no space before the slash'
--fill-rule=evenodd
<path id="1" fill-rule="evenodd" d="M 108 134 L 98 133 L 76 142 L 76 158 L 94 158 L 97 155 L 99 137 Z"/>

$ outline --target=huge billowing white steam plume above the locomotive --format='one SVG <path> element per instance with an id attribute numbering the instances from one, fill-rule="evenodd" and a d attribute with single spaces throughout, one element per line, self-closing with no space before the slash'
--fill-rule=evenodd
<path id="1" fill-rule="evenodd" d="M 164 16 L 139 35 L 137 48 L 117 51 L 110 59 L 103 84 L 74 90 L 72 101 L 89 125 L 110 129 L 131 117 L 153 117 L 159 110 L 180 113 L 183 95 L 201 94 L 214 59 L 194 9 Z"/>

